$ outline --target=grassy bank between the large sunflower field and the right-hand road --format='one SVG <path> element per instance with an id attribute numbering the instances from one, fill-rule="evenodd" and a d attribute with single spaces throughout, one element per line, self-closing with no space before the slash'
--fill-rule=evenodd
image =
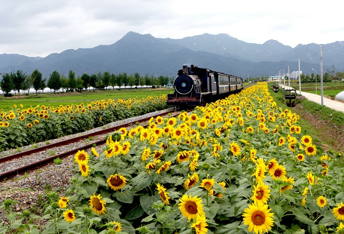
<path id="1" fill-rule="evenodd" d="M 269 84 L 269 91 L 274 98 L 277 106 L 291 110 L 300 116 L 298 123 L 302 126 L 302 132 L 304 134 L 313 137 L 313 141 L 317 146 L 328 145 L 330 148 L 338 148 L 338 139 L 335 136 L 329 136 L 329 131 L 319 131 L 317 124 L 326 125 L 327 128 L 335 130 L 341 130 L 343 134 L 344 129 L 344 113 L 335 111 L 326 106 L 321 106 L 315 102 L 309 101 L 303 98 L 296 99 L 296 105 L 299 107 L 288 107 L 284 104 L 283 89 L 280 89 L 275 93 L 272 89 L 273 84 Z M 303 118 L 301 116 L 307 117 Z M 315 121 L 310 120 L 312 118 Z M 318 152 L 321 154 L 324 152 L 322 147 L 318 148 Z"/>

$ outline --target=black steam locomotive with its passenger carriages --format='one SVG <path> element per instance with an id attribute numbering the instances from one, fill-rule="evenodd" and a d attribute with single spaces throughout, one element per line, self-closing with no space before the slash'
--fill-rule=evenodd
<path id="1" fill-rule="evenodd" d="M 174 93 L 167 95 L 167 105 L 203 106 L 241 91 L 242 78 L 194 65 L 183 65 L 174 79 L 173 87 Z"/>

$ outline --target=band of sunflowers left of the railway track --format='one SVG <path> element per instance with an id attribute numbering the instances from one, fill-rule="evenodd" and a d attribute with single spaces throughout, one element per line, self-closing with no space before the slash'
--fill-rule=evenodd
<path id="1" fill-rule="evenodd" d="M 89 104 L 14 105 L 0 110 L 0 151 L 84 132 L 107 123 L 166 108 L 166 95 L 142 99 L 103 99 Z"/>

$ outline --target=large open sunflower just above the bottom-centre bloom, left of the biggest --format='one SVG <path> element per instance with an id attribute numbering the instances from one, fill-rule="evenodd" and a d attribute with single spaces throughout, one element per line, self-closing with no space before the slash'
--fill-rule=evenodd
<path id="1" fill-rule="evenodd" d="M 184 194 L 179 199 L 178 205 L 179 210 L 183 214 L 185 218 L 187 218 L 189 221 L 191 219 L 196 219 L 197 215 L 205 215 L 203 211 L 203 205 L 202 205 L 202 199 L 195 196 L 191 197 L 191 194 L 188 195 Z"/>

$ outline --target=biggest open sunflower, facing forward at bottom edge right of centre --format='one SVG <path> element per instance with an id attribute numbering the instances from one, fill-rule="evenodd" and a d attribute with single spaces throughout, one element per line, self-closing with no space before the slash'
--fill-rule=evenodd
<path id="1" fill-rule="evenodd" d="M 267 233 L 274 226 L 274 213 L 270 213 L 268 205 L 252 204 L 244 210 L 244 224 L 249 226 L 249 232 L 255 234 Z"/>

